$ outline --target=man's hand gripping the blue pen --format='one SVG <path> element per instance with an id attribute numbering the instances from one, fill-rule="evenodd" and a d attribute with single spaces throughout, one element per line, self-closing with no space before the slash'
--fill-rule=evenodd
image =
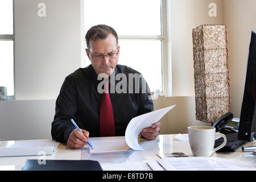
<path id="1" fill-rule="evenodd" d="M 89 132 L 86 130 L 82 130 L 82 133 L 77 129 L 74 129 L 71 134 L 69 134 L 67 146 L 69 148 L 77 149 L 82 148 L 88 142 Z"/>

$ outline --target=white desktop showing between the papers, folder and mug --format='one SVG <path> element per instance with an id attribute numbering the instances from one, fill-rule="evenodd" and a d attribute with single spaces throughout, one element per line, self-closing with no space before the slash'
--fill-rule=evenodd
<path id="1" fill-rule="evenodd" d="M 187 137 L 187 134 L 183 134 Z M 157 153 L 171 154 L 172 152 L 183 152 L 185 155 L 193 156 L 188 141 L 180 141 L 175 138 L 176 134 L 159 135 L 155 140 L 140 141 L 144 151 L 138 152 L 144 158 L 144 163 L 147 160 L 160 159 Z M 107 140 L 107 139 L 124 139 L 125 137 L 102 137 L 89 138 L 89 140 Z M 13 141 L 1 141 L 4 143 Z M 242 146 L 256 146 L 256 141 L 247 142 Z M 247 164 L 256 166 L 256 156 L 252 152 L 242 152 L 241 147 L 238 147 L 236 152 L 217 152 L 213 156 L 218 156 L 224 159 L 237 159 Z M 20 170 L 24 166 L 26 159 L 39 159 L 42 156 L 14 156 L 14 157 L 0 157 L 0 171 L 1 170 Z M 53 155 L 47 155 L 44 159 L 59 159 L 59 160 L 81 160 L 81 149 L 72 150 L 66 144 L 60 144 L 57 151 Z M 127 159 L 129 162 L 129 159 Z M 117 163 L 114 162 L 113 163 Z M 106 163 L 101 163 L 104 165 Z M 148 167 L 148 169 L 150 169 Z"/>

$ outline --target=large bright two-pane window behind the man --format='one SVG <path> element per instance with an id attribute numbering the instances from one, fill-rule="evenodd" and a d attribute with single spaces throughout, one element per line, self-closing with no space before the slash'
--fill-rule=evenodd
<path id="1" fill-rule="evenodd" d="M 163 30 L 161 0 L 85 0 L 85 34 L 96 24 L 107 24 L 117 31 L 120 56 L 118 64 L 142 73 L 151 92 L 164 92 L 163 65 L 166 36 Z M 90 64 L 85 55 L 85 65 Z M 165 73 L 167 75 L 167 72 Z M 167 89 L 167 87 L 166 87 Z M 165 91 L 167 92 L 167 90 Z"/>

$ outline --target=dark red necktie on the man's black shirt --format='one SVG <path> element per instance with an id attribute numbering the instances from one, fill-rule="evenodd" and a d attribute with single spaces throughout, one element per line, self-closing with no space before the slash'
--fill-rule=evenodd
<path id="1" fill-rule="evenodd" d="M 111 100 L 109 97 L 109 82 L 104 83 L 104 93 L 101 98 L 100 137 L 114 137 L 115 125 Z"/>

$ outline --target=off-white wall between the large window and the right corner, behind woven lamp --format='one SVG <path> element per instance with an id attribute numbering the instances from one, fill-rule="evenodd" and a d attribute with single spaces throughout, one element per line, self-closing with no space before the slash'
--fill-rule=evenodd
<path id="1" fill-rule="evenodd" d="M 216 3 L 217 16 L 208 7 Z M 195 96 L 192 29 L 201 24 L 221 24 L 222 0 L 171 0 L 172 96 Z"/>

